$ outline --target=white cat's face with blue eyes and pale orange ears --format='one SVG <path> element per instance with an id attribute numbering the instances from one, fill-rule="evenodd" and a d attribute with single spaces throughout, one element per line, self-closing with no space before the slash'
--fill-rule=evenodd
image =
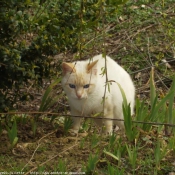
<path id="1" fill-rule="evenodd" d="M 63 63 L 62 86 L 69 98 L 82 100 L 88 98 L 95 89 L 96 63 L 85 64 L 84 62 Z"/>

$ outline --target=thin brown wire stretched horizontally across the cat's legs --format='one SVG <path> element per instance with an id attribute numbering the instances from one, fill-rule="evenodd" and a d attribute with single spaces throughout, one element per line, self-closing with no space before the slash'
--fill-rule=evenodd
<path id="1" fill-rule="evenodd" d="M 7 113 L 0 113 L 0 116 L 2 115 L 22 115 L 22 114 L 30 114 L 30 115 L 57 115 L 57 117 L 79 117 L 79 118 L 90 118 L 90 119 L 99 119 L 99 120 L 113 120 L 113 121 L 124 121 L 124 119 L 116 119 L 116 118 L 107 118 L 107 117 L 94 117 L 94 116 L 79 116 L 79 115 L 70 115 L 70 114 L 60 114 L 56 112 L 7 112 Z M 31 116 L 34 117 L 34 116 Z M 148 125 L 163 125 L 163 126 L 169 126 L 169 127 L 175 127 L 175 124 L 172 123 L 161 123 L 161 122 L 145 122 L 145 121 L 135 121 L 132 120 L 133 123 L 138 124 L 148 124 Z"/>

